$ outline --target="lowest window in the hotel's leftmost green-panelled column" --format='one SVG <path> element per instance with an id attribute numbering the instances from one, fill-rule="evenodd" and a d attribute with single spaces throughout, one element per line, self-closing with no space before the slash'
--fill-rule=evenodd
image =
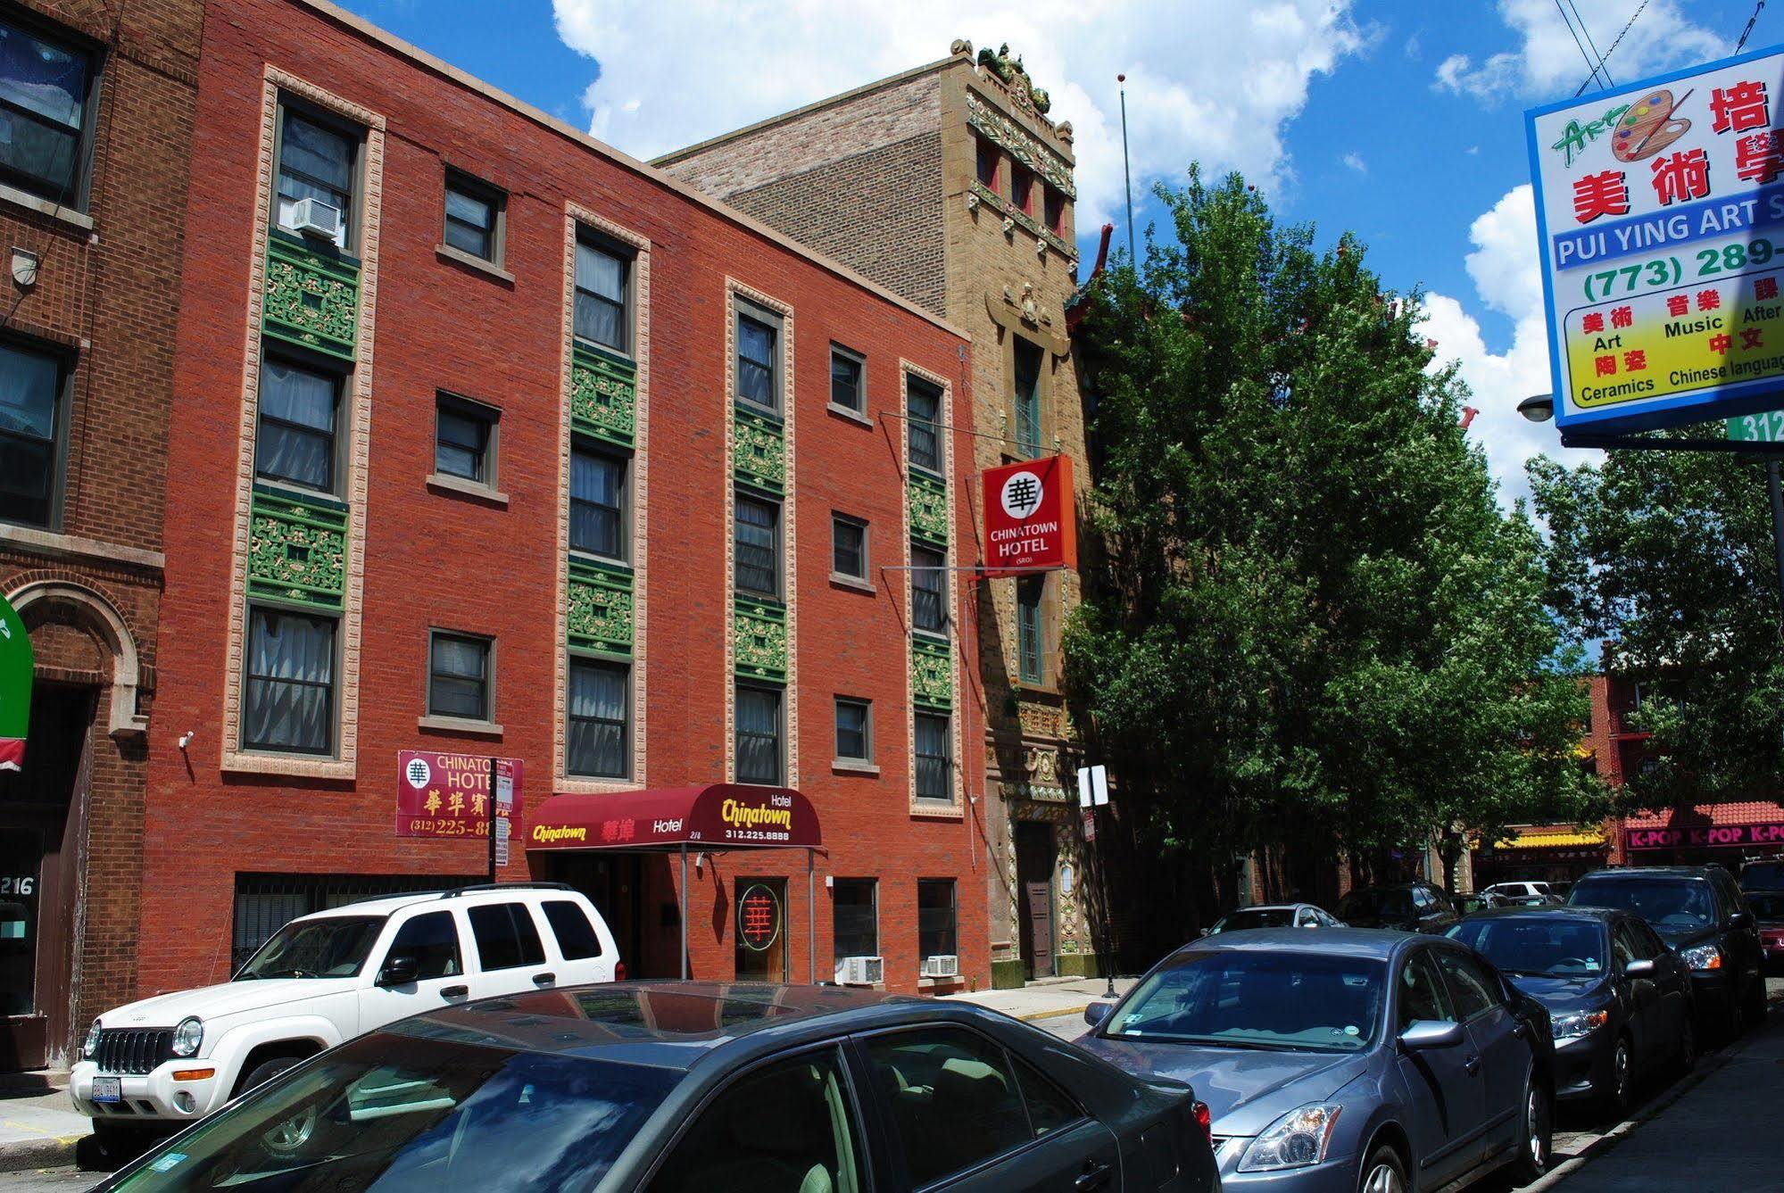
<path id="1" fill-rule="evenodd" d="M 248 613 L 244 749 L 334 751 L 335 621 L 275 608 Z"/>

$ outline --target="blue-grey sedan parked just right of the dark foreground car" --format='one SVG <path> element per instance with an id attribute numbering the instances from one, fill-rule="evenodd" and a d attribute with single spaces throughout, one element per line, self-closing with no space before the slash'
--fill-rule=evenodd
<path id="1" fill-rule="evenodd" d="M 1085 1020 L 1090 1052 L 1206 1098 L 1227 1193 L 1404 1191 L 1549 1166 L 1549 1013 L 1443 936 L 1222 933 Z"/>

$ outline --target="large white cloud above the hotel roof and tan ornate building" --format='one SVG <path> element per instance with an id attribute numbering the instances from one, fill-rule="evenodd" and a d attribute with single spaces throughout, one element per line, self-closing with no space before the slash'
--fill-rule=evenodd
<path id="1" fill-rule="evenodd" d="M 1127 73 L 1135 185 L 1192 160 L 1261 185 L 1292 177 L 1283 128 L 1313 75 L 1370 48 L 1350 0 L 553 0 L 558 36 L 599 62 L 594 136 L 640 157 L 935 61 L 954 37 L 1008 41 L 1072 121 L 1079 228 L 1120 200 Z"/>

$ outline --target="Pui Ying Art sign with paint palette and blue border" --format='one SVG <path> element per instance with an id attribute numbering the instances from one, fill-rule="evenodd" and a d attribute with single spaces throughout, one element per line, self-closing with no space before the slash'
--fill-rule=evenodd
<path id="1" fill-rule="evenodd" d="M 1563 432 L 1780 405 L 1779 103 L 1784 48 L 1525 114 Z"/>

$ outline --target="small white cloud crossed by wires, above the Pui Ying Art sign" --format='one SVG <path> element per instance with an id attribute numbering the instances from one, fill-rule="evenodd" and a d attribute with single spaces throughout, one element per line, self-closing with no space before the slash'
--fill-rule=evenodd
<path id="1" fill-rule="evenodd" d="M 1607 55 L 1606 70 L 1620 82 L 1729 52 L 1725 37 L 1686 20 L 1681 0 L 1648 0 L 1615 52 L 1611 45 L 1632 11 L 1627 0 L 1573 0 L 1568 16 L 1575 7 L 1593 45 Z M 1479 64 L 1466 53 L 1452 53 L 1438 64 L 1433 86 L 1479 100 L 1572 95 L 1590 71 L 1556 0 L 1499 0 L 1499 14 L 1518 34 L 1518 50 Z"/>

